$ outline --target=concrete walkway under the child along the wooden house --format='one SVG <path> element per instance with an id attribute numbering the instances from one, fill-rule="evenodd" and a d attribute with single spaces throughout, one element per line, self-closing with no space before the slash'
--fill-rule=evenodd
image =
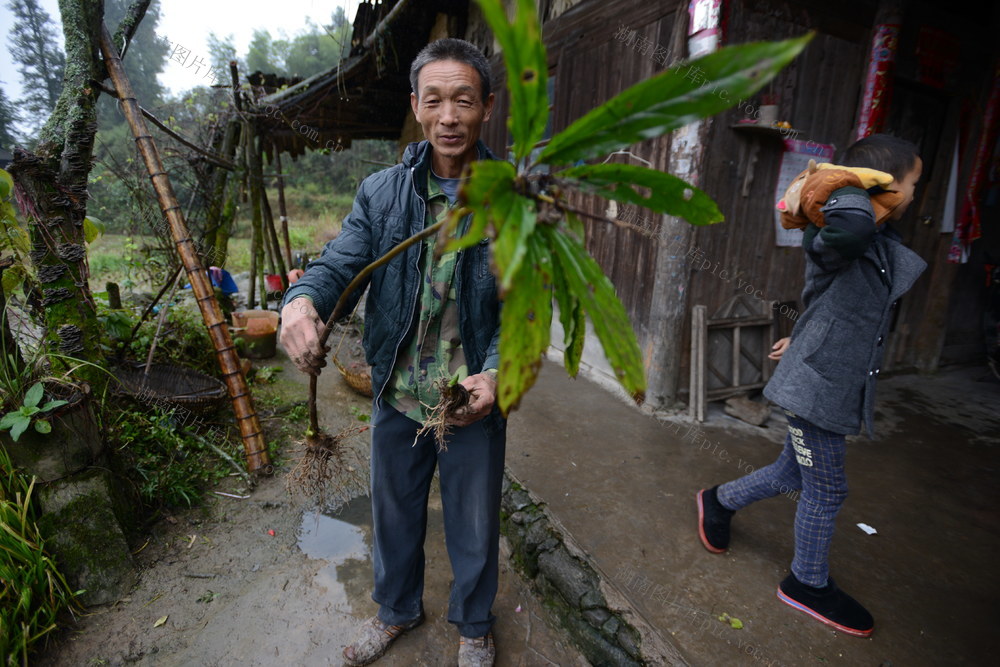
<path id="1" fill-rule="evenodd" d="M 849 441 L 851 492 L 831 552 L 833 577 L 875 617 L 869 639 L 775 597 L 797 494 L 741 511 L 724 555 L 698 540 L 695 493 L 773 461 L 777 412 L 765 428 L 717 406 L 700 425 L 658 419 L 547 362 L 511 417 L 507 465 L 652 628 L 648 645 L 677 649 L 647 655 L 652 664 L 992 664 L 1000 382 L 985 368 L 886 378 L 876 432 Z"/>

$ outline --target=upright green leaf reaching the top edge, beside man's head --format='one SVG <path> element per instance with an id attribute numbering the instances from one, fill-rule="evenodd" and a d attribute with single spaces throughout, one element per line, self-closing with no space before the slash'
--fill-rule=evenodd
<path id="1" fill-rule="evenodd" d="M 549 118 L 548 61 L 534 0 L 516 0 L 514 22 L 507 21 L 501 0 L 477 0 L 483 18 L 503 51 L 510 108 L 508 118 L 514 142 L 514 160 L 520 162 L 545 133 Z"/>

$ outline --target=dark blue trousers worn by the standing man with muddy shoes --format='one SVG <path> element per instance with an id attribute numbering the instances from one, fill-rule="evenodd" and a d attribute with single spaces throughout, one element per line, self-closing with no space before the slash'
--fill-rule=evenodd
<path id="1" fill-rule="evenodd" d="M 440 469 L 445 543 L 453 581 L 448 621 L 463 637 L 482 637 L 496 617 L 500 485 L 506 432 L 488 435 L 481 422 L 453 427 L 447 450 L 420 424 L 377 401 L 372 411 L 371 493 L 375 591 L 379 618 L 392 625 L 423 610 L 427 497 Z"/>

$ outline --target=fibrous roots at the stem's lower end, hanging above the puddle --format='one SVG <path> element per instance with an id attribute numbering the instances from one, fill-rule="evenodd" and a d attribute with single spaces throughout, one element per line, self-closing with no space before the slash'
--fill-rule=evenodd
<path id="1" fill-rule="evenodd" d="M 322 431 L 301 443 L 301 456 L 285 479 L 289 495 L 301 494 L 324 512 L 336 513 L 348 501 L 368 492 L 368 462 L 345 441 L 368 426 L 346 429 L 337 435 Z"/>

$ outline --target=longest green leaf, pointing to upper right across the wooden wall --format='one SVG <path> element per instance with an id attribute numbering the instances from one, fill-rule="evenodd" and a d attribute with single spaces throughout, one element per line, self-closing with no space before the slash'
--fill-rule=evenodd
<path id="1" fill-rule="evenodd" d="M 727 46 L 637 83 L 552 137 L 538 162 L 605 155 L 728 109 L 760 90 L 812 37 Z"/>

